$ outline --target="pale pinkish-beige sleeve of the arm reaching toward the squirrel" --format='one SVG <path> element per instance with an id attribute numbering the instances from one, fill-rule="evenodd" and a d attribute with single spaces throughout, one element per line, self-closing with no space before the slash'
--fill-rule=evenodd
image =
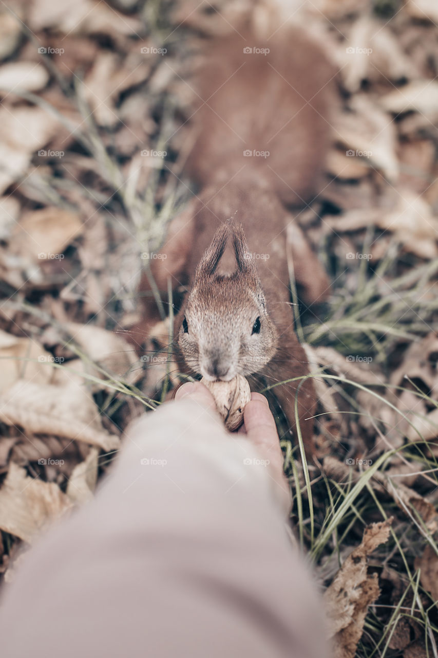
<path id="1" fill-rule="evenodd" d="M 193 399 L 135 422 L 95 499 L 5 586 L 2 655 L 328 656 L 320 597 L 260 461 Z"/>

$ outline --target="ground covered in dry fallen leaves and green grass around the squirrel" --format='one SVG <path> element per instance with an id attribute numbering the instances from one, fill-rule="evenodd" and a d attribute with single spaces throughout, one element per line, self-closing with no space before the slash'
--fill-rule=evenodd
<path id="1" fill-rule="evenodd" d="M 125 334 L 141 319 L 141 272 L 191 196 L 187 70 L 201 39 L 266 19 L 270 3 L 4 7 L 0 574 L 11 580 L 20 545 L 93 495 L 128 420 L 168 388 L 159 349 L 139 357 Z M 291 520 L 339 658 L 438 658 L 438 8 L 314 0 L 292 13 L 339 68 L 339 110 L 326 186 L 297 217 L 332 290 L 317 311 L 295 306 L 319 467 L 281 437 Z M 354 569 L 358 555 L 367 569 Z"/>

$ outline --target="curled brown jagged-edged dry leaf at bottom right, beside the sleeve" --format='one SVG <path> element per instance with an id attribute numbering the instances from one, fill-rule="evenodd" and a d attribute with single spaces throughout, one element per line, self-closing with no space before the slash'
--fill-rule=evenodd
<path id="1" fill-rule="evenodd" d="M 366 528 L 362 543 L 347 557 L 324 594 L 335 658 L 354 658 L 356 655 L 368 605 L 379 595 L 377 574 L 368 575 L 366 558 L 387 541 L 391 520 L 373 523 Z"/>

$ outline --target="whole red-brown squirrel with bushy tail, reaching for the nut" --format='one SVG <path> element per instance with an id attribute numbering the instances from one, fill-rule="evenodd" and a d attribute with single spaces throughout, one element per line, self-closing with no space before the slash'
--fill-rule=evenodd
<path id="1" fill-rule="evenodd" d="M 166 259 L 151 263 L 164 297 L 169 277 L 188 289 L 174 325 L 188 371 L 276 385 L 293 431 L 297 397 L 307 455 L 316 398 L 293 328 L 288 262 L 303 301 L 324 300 L 328 277 L 293 215 L 323 186 L 333 78 L 322 49 L 290 25 L 270 41 L 251 30 L 208 41 L 191 82 L 196 138 L 186 163 L 200 191 L 170 225 Z M 145 332 L 160 318 L 143 299 Z"/>

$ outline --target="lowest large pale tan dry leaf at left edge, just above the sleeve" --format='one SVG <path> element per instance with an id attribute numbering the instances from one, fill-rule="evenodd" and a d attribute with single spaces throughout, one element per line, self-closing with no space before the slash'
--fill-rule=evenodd
<path id="1" fill-rule="evenodd" d="M 24 542 L 64 514 L 72 503 L 57 484 L 30 478 L 26 470 L 11 463 L 0 488 L 0 529 Z"/>

